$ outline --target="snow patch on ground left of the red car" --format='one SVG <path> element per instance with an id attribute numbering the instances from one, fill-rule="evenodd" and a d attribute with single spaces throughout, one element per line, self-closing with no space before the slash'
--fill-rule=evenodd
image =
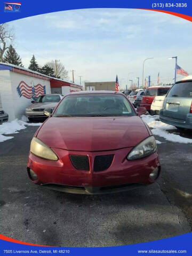
<path id="1" fill-rule="evenodd" d="M 25 116 L 22 116 L 21 120 L 15 119 L 11 122 L 5 122 L 0 125 L 0 142 L 14 138 L 12 136 L 4 136 L 3 134 L 18 133 L 18 131 L 26 129 L 26 125 L 39 126 L 41 124 L 42 123 L 27 123 Z"/>

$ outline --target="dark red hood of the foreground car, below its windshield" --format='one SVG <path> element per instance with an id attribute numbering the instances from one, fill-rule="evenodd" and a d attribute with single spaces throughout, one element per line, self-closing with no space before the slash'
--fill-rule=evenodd
<path id="1" fill-rule="evenodd" d="M 139 116 L 50 117 L 37 133 L 49 147 L 80 151 L 134 147 L 148 136 Z"/>

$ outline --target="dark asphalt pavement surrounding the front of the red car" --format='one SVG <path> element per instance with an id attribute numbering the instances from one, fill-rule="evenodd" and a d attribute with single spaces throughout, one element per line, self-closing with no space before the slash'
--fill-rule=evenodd
<path id="1" fill-rule="evenodd" d="M 108 195 L 65 194 L 30 182 L 26 163 L 38 126 L 0 143 L 0 234 L 52 246 L 116 246 L 185 234 L 192 227 L 192 145 L 158 144 L 153 185 Z M 11 134 L 9 134 L 11 136 Z"/>

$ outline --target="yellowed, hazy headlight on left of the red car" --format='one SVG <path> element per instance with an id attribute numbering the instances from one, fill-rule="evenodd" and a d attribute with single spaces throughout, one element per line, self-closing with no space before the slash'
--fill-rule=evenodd
<path id="1" fill-rule="evenodd" d="M 41 140 L 34 137 L 31 140 L 30 151 L 36 156 L 57 161 L 58 157 L 53 150 L 47 147 Z"/>

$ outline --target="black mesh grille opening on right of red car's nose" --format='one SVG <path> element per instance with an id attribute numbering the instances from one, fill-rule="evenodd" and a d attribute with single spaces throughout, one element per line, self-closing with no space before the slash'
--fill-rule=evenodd
<path id="1" fill-rule="evenodd" d="M 95 156 L 94 172 L 107 170 L 113 161 L 114 155 Z"/>

